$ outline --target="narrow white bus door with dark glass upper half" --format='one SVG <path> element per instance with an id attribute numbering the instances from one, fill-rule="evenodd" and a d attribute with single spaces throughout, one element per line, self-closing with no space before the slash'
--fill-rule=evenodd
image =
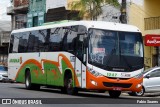
<path id="1" fill-rule="evenodd" d="M 84 46 L 86 34 L 78 34 L 76 42 L 75 72 L 81 88 L 86 88 L 86 48 Z"/>

